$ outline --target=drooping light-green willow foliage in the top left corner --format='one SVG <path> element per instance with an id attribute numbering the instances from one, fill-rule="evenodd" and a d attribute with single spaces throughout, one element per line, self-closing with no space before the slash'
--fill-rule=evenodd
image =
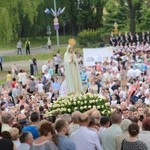
<path id="1" fill-rule="evenodd" d="M 0 34 L 6 33 L 7 30 L 10 32 L 10 36 L 6 38 L 4 41 L 9 42 L 12 39 L 16 39 L 21 35 L 22 28 L 26 27 L 27 24 L 24 25 L 22 22 L 28 20 L 28 25 L 32 25 L 35 18 L 38 15 L 37 7 L 43 0 L 0 0 L 0 7 L 3 15 L 5 16 L 6 21 L 0 22 L 0 28 L 4 30 L 0 30 Z M 1 16 L 3 19 L 3 16 Z M 9 22 L 9 28 L 3 28 L 4 23 L 7 24 Z M 12 36 L 11 36 L 12 35 Z"/>

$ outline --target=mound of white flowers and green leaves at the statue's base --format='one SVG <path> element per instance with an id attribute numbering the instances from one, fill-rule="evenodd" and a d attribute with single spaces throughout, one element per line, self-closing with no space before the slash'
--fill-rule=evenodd
<path id="1" fill-rule="evenodd" d="M 55 114 L 71 114 L 74 111 L 85 112 L 91 108 L 96 108 L 100 111 L 101 115 L 109 116 L 111 113 L 110 105 L 104 97 L 99 97 L 97 94 L 84 94 L 77 97 L 73 95 L 59 98 L 51 104 L 49 111 L 46 112 L 47 116 L 54 116 Z"/>

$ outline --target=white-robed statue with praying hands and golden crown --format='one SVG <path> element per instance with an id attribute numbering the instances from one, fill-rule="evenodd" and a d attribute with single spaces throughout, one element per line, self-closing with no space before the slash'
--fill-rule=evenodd
<path id="1" fill-rule="evenodd" d="M 80 78 L 77 56 L 74 52 L 75 44 L 76 41 L 74 39 L 69 40 L 69 45 L 64 55 L 64 68 L 67 94 L 78 96 L 83 93 L 83 87 Z"/>

